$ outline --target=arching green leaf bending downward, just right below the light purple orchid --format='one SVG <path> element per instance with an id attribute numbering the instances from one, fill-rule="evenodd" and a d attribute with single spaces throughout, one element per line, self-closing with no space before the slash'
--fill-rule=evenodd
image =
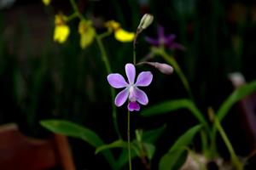
<path id="1" fill-rule="evenodd" d="M 189 99 L 175 99 L 171 101 L 166 101 L 157 105 L 148 107 L 142 111 L 142 116 L 156 116 L 165 114 L 170 111 L 177 111 L 179 109 L 187 109 L 192 112 L 195 118 L 204 125 L 207 125 L 205 117 L 201 114 L 194 103 Z"/>

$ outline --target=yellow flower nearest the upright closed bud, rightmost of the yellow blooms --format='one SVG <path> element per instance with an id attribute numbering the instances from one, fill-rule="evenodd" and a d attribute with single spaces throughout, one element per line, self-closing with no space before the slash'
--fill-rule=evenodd
<path id="1" fill-rule="evenodd" d="M 114 37 L 119 42 L 131 42 L 135 37 L 133 32 L 125 31 L 121 28 L 120 24 L 114 20 L 109 20 L 106 22 L 105 26 L 108 28 L 108 31 L 114 32 Z"/>

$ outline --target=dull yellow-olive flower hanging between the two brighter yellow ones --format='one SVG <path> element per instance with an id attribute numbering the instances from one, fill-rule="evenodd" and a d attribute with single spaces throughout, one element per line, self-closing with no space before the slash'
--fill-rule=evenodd
<path id="1" fill-rule="evenodd" d="M 96 31 L 91 24 L 90 20 L 80 20 L 79 22 L 80 47 L 83 49 L 93 42 L 96 35 Z"/>

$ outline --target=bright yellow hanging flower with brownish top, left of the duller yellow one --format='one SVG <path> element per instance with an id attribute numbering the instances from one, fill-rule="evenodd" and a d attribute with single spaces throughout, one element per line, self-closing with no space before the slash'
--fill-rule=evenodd
<path id="1" fill-rule="evenodd" d="M 67 40 L 70 30 L 66 25 L 65 20 L 67 17 L 62 14 L 55 15 L 55 31 L 54 31 L 54 41 L 63 43 Z"/>

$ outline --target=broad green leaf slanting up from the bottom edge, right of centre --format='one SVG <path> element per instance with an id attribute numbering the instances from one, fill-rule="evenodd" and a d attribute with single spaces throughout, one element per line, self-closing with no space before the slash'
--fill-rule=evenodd
<path id="1" fill-rule="evenodd" d="M 173 167 L 176 167 L 177 161 L 181 156 L 183 156 L 183 152 L 186 150 L 185 148 L 191 143 L 195 134 L 200 131 L 201 127 L 201 125 L 191 127 L 186 133 L 183 133 L 183 135 L 177 139 L 166 155 L 160 159 L 160 170 L 170 170 L 174 169 Z"/>

